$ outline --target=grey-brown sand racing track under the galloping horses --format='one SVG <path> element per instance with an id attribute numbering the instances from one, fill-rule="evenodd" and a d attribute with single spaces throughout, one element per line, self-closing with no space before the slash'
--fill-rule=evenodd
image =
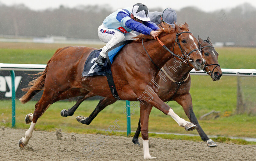
<path id="1" fill-rule="evenodd" d="M 0 128 L 0 160 L 143 160 L 143 147 L 135 146 L 132 138 L 103 137 L 96 134 L 34 131 L 26 149 L 18 141 L 25 129 Z M 141 137 L 139 138 L 142 144 Z M 150 138 L 153 160 L 256 160 L 256 146 L 217 142 L 208 148 L 206 142 Z"/>

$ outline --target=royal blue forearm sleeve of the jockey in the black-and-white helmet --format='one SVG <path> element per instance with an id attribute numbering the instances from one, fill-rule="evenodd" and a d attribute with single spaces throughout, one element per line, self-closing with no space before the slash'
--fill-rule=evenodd
<path id="1" fill-rule="evenodd" d="M 127 20 L 125 22 L 125 26 L 132 29 L 133 31 L 137 31 L 146 35 L 150 35 L 150 32 L 152 31 L 151 28 L 141 24 L 140 22 L 134 21 L 133 19 Z"/>

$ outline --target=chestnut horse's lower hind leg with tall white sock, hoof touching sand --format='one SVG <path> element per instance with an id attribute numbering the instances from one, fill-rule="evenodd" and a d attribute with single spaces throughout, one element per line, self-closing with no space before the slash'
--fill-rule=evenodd
<path id="1" fill-rule="evenodd" d="M 51 105 L 50 104 L 51 101 L 52 100 L 47 97 L 47 94 L 43 94 L 41 99 L 35 105 L 34 114 L 30 116 L 30 119 L 32 119 L 32 122 L 30 124 L 29 129 L 25 133 L 25 138 L 22 137 L 19 140 L 20 148 L 23 148 L 24 146 L 26 146 L 28 144 L 29 139 L 32 137 L 32 133 L 34 131 L 34 128 L 35 128 L 38 118 L 40 118 L 44 114 L 44 112 L 49 108 L 49 106 Z"/>

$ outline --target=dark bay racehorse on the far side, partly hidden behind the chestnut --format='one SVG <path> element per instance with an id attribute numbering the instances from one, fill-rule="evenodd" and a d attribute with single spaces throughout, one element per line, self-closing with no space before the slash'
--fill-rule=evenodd
<path id="1" fill-rule="evenodd" d="M 220 77 L 222 76 L 222 71 L 218 63 L 219 53 L 214 49 L 211 39 L 209 37 L 207 38 L 207 40 L 198 38 L 198 47 L 201 49 L 201 53 L 203 54 L 203 57 L 206 60 L 204 68 L 205 72 L 212 77 L 213 81 L 219 80 Z M 175 67 L 174 64 L 178 64 L 179 66 L 176 65 Z M 201 139 L 207 142 L 207 146 L 214 147 L 217 146 L 217 144 L 215 144 L 215 142 L 212 141 L 212 139 L 209 139 L 208 136 L 205 134 L 205 132 L 199 125 L 193 111 L 192 98 L 189 93 L 191 79 L 190 75 L 188 74 L 188 72 L 190 72 L 190 70 L 192 69 L 192 67 L 188 66 L 186 63 L 182 61 L 177 61 L 174 58 L 169 60 L 163 67 L 164 72 L 159 73 L 155 77 L 156 83 L 160 86 L 157 95 L 163 101 L 178 102 L 183 107 L 190 121 L 194 125 L 197 125 L 197 132 L 200 135 Z M 89 93 L 86 96 L 80 96 L 78 101 L 72 108 L 61 111 L 61 116 L 72 116 L 78 108 L 78 106 L 84 100 L 92 96 L 94 96 L 93 93 Z M 116 99 L 102 98 L 89 117 L 85 118 L 83 116 L 78 116 L 76 117 L 76 119 L 78 122 L 82 124 L 89 125 L 100 111 L 102 111 L 109 104 L 113 104 L 114 102 L 116 102 Z M 133 113 L 133 111 L 131 113 Z M 137 131 L 135 132 L 135 135 L 133 137 L 134 144 L 140 145 L 138 140 L 139 134 L 140 121 L 138 123 Z"/>

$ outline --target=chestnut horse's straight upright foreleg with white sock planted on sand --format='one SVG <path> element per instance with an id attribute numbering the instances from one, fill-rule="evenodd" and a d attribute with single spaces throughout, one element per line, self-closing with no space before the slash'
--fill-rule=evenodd
<path id="1" fill-rule="evenodd" d="M 143 157 L 144 159 L 153 159 L 155 157 L 150 156 L 149 154 L 149 145 L 148 145 L 148 118 L 152 109 L 152 105 L 143 101 L 143 104 L 140 103 L 140 121 L 141 121 L 141 135 L 143 139 Z"/>

